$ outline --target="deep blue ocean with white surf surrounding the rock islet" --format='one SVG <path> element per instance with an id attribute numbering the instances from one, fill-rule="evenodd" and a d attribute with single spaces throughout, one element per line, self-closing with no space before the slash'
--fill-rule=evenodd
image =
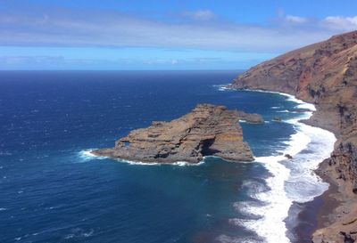
<path id="1" fill-rule="evenodd" d="M 0 72 L 0 242 L 295 242 L 289 208 L 327 190 L 311 170 L 335 136 L 299 123 L 314 108 L 293 96 L 228 89 L 237 74 Z M 254 162 L 148 166 L 89 153 L 198 103 L 264 117 L 241 123 Z"/>

